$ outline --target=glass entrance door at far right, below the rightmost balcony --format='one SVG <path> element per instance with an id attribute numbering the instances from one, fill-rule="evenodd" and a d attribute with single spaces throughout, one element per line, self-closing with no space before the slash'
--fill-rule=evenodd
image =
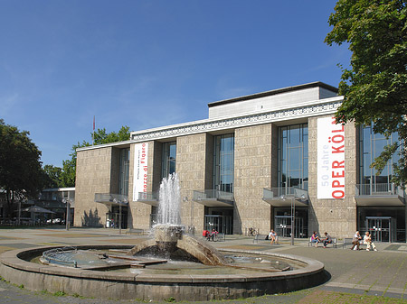
<path id="1" fill-rule="evenodd" d="M 395 242 L 397 234 L 396 220 L 390 216 L 366 216 L 365 228 L 376 242 Z"/>

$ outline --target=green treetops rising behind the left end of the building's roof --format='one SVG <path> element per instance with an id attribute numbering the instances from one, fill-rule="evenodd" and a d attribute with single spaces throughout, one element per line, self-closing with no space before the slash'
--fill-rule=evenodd
<path id="1" fill-rule="evenodd" d="M 107 133 L 106 129 L 98 129 L 98 131 L 93 133 L 94 144 L 103 143 L 117 143 L 128 141 L 130 139 L 130 127 L 127 125 L 122 126 L 118 133 L 110 132 Z M 75 187 L 76 179 L 76 150 L 78 148 L 90 146 L 91 143 L 83 141 L 82 143 L 77 143 L 72 146 L 72 152 L 70 154 L 71 159 L 62 161 L 62 176 L 61 182 L 62 187 Z"/>

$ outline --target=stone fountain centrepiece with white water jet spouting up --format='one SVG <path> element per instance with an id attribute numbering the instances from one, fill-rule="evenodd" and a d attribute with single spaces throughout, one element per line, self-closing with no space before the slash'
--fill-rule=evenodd
<path id="1" fill-rule="evenodd" d="M 225 265 L 226 259 L 213 246 L 193 235 L 185 234 L 181 225 L 181 196 L 177 174 L 171 174 L 160 185 L 157 225 L 154 239 L 136 245 L 129 255 L 152 254 L 172 260 L 205 265 Z"/>

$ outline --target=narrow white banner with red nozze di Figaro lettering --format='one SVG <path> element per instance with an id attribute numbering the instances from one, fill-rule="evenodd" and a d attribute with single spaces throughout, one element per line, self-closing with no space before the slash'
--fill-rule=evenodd
<path id="1" fill-rule="evenodd" d="M 147 192 L 147 153 L 148 143 L 137 143 L 134 147 L 133 201 L 138 200 L 139 192 Z"/>

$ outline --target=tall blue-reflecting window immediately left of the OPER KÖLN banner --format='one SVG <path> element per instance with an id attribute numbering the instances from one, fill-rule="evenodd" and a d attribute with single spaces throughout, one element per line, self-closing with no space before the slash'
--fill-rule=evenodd
<path id="1" fill-rule="evenodd" d="M 308 124 L 279 127 L 279 187 L 308 189 Z"/>

